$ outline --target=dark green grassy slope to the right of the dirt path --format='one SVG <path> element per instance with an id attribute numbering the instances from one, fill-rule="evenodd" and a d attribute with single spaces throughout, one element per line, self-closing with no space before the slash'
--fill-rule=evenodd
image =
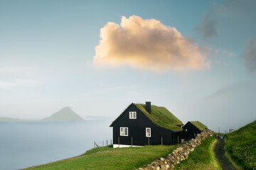
<path id="1" fill-rule="evenodd" d="M 228 134 L 225 144 L 238 164 L 256 169 L 256 120 Z"/>

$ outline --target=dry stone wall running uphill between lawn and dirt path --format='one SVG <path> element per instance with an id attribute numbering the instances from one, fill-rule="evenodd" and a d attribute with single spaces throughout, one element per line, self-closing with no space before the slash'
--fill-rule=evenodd
<path id="1" fill-rule="evenodd" d="M 208 136 L 213 135 L 212 130 L 203 130 L 201 134 L 198 134 L 195 139 L 184 142 L 180 147 L 176 148 L 172 153 L 168 154 L 166 158 L 160 158 L 151 162 L 151 164 L 146 165 L 144 168 L 139 168 L 135 170 L 170 170 L 174 169 L 175 164 L 180 164 L 181 161 L 188 158 L 188 154 L 193 152 L 195 147 L 201 144 L 201 141 Z"/>

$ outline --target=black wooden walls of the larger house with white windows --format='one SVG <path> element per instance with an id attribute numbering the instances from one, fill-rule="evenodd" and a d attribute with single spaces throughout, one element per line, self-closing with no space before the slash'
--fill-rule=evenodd
<path id="1" fill-rule="evenodd" d="M 181 142 L 182 130 L 174 132 L 155 125 L 133 103 L 128 108 L 113 125 L 113 144 L 118 144 L 118 138 L 119 145 L 132 144 L 142 146 L 148 145 L 148 142 L 149 145 L 161 145 L 161 138 L 163 145 L 176 144 L 178 140 Z M 137 112 L 137 119 L 129 119 L 130 111 Z M 128 128 L 128 136 L 120 136 L 120 127 Z M 151 137 L 146 137 L 146 128 L 151 128 Z"/>

